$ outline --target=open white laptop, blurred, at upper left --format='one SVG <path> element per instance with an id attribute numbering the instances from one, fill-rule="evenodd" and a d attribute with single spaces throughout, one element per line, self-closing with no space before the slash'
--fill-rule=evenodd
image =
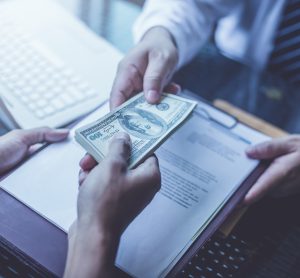
<path id="1" fill-rule="evenodd" d="M 108 99 L 122 54 L 53 0 L 0 1 L 0 118 L 63 127 Z"/>

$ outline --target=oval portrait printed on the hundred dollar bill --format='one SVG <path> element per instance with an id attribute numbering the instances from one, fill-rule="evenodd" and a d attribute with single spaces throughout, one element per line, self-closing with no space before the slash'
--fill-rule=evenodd
<path id="1" fill-rule="evenodd" d="M 129 134 L 148 140 L 162 136 L 168 128 L 159 116 L 137 108 L 122 111 L 119 123 Z"/>

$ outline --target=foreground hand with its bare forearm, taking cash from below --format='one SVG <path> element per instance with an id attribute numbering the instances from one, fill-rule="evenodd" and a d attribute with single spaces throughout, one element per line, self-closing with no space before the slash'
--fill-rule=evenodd
<path id="1" fill-rule="evenodd" d="M 80 162 L 78 218 L 69 236 L 66 277 L 113 276 L 122 232 L 159 190 L 157 158 L 129 170 L 130 152 L 129 136 L 119 133 L 100 164 L 90 155 Z"/>

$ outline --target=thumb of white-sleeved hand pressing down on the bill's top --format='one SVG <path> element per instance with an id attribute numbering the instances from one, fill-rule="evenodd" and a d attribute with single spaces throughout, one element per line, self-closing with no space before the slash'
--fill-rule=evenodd
<path id="1" fill-rule="evenodd" d="M 149 53 L 149 64 L 144 76 L 144 92 L 149 103 L 160 100 L 163 87 L 168 83 L 173 71 L 170 57 L 160 51 Z"/>

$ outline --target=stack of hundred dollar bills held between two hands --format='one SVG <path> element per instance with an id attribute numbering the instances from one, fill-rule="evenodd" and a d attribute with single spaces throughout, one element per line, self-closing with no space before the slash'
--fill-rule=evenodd
<path id="1" fill-rule="evenodd" d="M 77 129 L 75 139 L 100 162 L 108 152 L 110 139 L 118 132 L 127 132 L 132 141 L 129 168 L 133 168 L 152 154 L 195 106 L 194 101 L 170 94 L 163 94 L 159 104 L 149 104 L 140 93 L 103 118 Z"/>

